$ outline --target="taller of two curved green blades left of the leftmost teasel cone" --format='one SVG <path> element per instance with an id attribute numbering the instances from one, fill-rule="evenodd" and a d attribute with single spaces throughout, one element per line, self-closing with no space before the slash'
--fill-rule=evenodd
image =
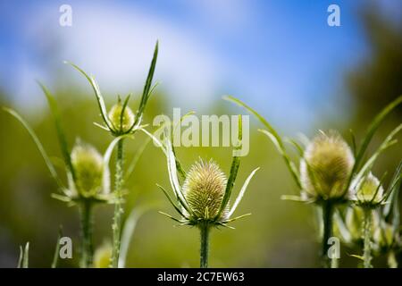
<path id="1" fill-rule="evenodd" d="M 67 145 L 67 139 L 64 134 L 63 127 L 62 127 L 62 119 L 60 116 L 59 108 L 57 106 L 56 101 L 54 100 L 53 95 L 50 93 L 50 91 L 39 81 L 38 81 L 38 85 L 40 86 L 40 88 L 42 88 L 42 90 L 46 96 L 47 103 L 50 107 L 50 110 L 52 111 L 53 118 L 54 118 L 54 124 L 55 124 L 55 128 L 57 131 L 57 138 L 59 139 L 60 147 L 61 147 L 62 153 L 63 153 L 64 163 L 66 164 L 68 170 L 71 172 L 72 179 L 75 181 L 75 172 L 74 172 L 74 168 L 72 167 L 72 164 L 71 164 L 70 150 Z"/>

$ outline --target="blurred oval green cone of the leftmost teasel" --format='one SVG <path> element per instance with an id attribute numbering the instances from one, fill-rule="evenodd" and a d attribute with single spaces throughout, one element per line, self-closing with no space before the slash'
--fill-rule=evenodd
<path id="1" fill-rule="evenodd" d="M 78 141 L 71 151 L 71 164 L 75 188 L 81 196 L 88 198 L 102 191 L 104 162 L 95 147 Z"/>

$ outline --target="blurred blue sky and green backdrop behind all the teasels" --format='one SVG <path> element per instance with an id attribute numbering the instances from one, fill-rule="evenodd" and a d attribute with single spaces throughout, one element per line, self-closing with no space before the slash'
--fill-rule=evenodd
<path id="1" fill-rule="evenodd" d="M 327 24 L 327 7 L 340 7 L 341 26 Z M 72 26 L 59 25 L 59 7 L 70 4 Z M 50 88 L 62 109 L 69 144 L 76 138 L 102 152 L 111 137 L 96 128 L 99 114 L 88 82 L 63 60 L 94 74 L 106 104 L 133 92 L 135 109 L 147 75 L 155 40 L 160 54 L 155 80 L 160 82 L 147 106 L 145 122 L 156 114 L 238 114 L 222 101 L 231 94 L 252 105 L 284 136 L 308 136 L 337 129 L 345 138 L 353 129 L 361 138 L 382 106 L 402 94 L 402 4 L 387 1 L 1 1 L 0 105 L 13 106 L 38 132 L 54 164 L 60 150 L 46 99 L 35 80 Z M 373 146 L 401 122 L 399 108 Z M 251 122 L 250 153 L 242 159 L 244 181 L 256 166 L 239 214 L 247 219 L 236 230 L 215 230 L 212 266 L 318 266 L 314 209 L 281 201 L 297 192 L 281 157 Z M 127 160 L 145 139 L 131 141 Z M 400 139 L 400 136 L 399 136 Z M 198 156 L 213 157 L 229 172 L 227 147 L 179 148 L 188 168 Z M 402 157 L 400 145 L 389 149 L 374 171 L 392 172 Z M 59 225 L 79 239 L 78 212 L 50 198 L 56 191 L 29 134 L 9 114 L 0 112 L 0 266 L 17 264 L 19 246 L 30 242 L 29 265 L 52 261 Z M 157 213 L 172 213 L 155 187 L 169 186 L 165 160 L 149 145 L 126 188 L 126 214 L 152 206 L 138 222 L 130 246 L 130 267 L 198 265 L 198 233 Z M 113 206 L 96 208 L 96 246 L 110 240 Z M 78 265 L 78 249 L 63 266 Z M 341 266 L 355 266 L 356 249 L 342 248 Z M 400 257 L 399 257 L 400 258 Z M 374 260 L 382 266 L 383 259 Z"/>

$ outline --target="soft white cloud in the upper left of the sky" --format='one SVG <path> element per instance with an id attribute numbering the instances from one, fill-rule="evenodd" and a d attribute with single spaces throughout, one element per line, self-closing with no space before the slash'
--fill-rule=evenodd
<path id="1" fill-rule="evenodd" d="M 155 40 L 159 39 L 155 80 L 161 81 L 159 88 L 172 96 L 172 104 L 199 108 L 214 96 L 222 63 L 189 30 L 131 6 L 78 2 L 71 6 L 71 28 L 58 25 L 58 7 L 54 6 L 43 8 L 43 15 L 27 22 L 25 37 L 34 55 L 44 55 L 56 46 L 56 62 L 60 62 L 61 69 L 63 60 L 77 63 L 96 76 L 106 95 L 124 95 L 142 90 Z M 87 84 L 75 77 L 75 71 L 64 74 Z M 17 93 L 26 94 L 27 89 L 35 88 L 37 74 L 26 74 L 23 80 L 29 77 L 31 82 L 15 87 Z"/>

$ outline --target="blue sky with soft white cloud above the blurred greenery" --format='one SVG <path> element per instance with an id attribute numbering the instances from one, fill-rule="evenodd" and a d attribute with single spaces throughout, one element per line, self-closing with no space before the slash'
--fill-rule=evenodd
<path id="1" fill-rule="evenodd" d="M 400 1 L 374 1 L 400 19 Z M 72 27 L 60 27 L 71 4 Z M 339 4 L 340 27 L 327 25 Z M 106 96 L 142 87 L 155 39 L 156 71 L 173 106 L 203 109 L 222 94 L 295 129 L 344 100 L 344 72 L 369 51 L 358 21 L 367 1 L 2 1 L 0 88 L 43 105 L 35 79 L 82 85 L 63 60 L 96 75 Z M 49 56 L 52 55 L 52 56 Z M 61 75 L 63 80 L 61 80 Z M 196 108 L 196 109 L 197 109 Z M 284 112 L 286 111 L 286 112 Z"/>

